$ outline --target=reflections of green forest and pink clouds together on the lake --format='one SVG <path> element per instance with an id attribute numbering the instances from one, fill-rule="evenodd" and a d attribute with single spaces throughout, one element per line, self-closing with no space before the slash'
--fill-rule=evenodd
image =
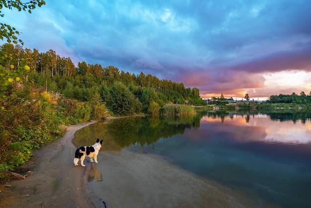
<path id="1" fill-rule="evenodd" d="M 293 118 L 294 120 L 291 120 Z M 218 123 L 222 123 L 219 125 Z M 205 125 L 200 128 L 200 125 Z M 170 138 L 191 131 L 191 139 L 230 138 L 235 142 L 311 143 L 311 113 L 243 114 L 226 111 L 199 112 L 183 117 L 127 117 L 87 126 L 75 135 L 76 146 L 104 139 L 101 150 L 121 150 L 132 145 L 153 145 L 160 138 Z M 223 135 L 223 136 L 221 136 Z"/>

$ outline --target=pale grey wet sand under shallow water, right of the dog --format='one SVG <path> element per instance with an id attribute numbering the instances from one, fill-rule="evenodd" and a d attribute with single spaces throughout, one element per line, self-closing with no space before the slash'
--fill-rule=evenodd
<path id="1" fill-rule="evenodd" d="M 108 208 L 276 207 L 144 151 L 102 151 L 99 162 L 86 173 L 98 207 L 102 201 Z"/>

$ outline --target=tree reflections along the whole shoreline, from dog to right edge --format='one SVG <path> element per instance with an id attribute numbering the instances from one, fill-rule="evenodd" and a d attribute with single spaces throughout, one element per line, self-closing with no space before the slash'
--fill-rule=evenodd
<path id="1" fill-rule="evenodd" d="M 96 138 L 104 139 L 102 150 L 121 150 L 134 144 L 141 146 L 152 145 L 160 138 L 169 138 L 173 135 L 183 134 L 185 129 L 199 128 L 200 119 L 203 116 L 213 119 L 233 119 L 234 115 L 245 117 L 245 122 L 249 122 L 256 117 L 259 112 L 233 112 L 226 110 L 219 111 L 199 111 L 192 116 L 165 116 L 165 117 L 127 117 L 112 119 L 108 122 L 98 122 L 86 126 L 78 131 L 73 143 L 76 146 L 92 145 Z M 267 114 L 271 120 L 301 120 L 305 123 L 311 119 L 311 112 L 307 111 L 266 111 L 260 114 Z"/>

